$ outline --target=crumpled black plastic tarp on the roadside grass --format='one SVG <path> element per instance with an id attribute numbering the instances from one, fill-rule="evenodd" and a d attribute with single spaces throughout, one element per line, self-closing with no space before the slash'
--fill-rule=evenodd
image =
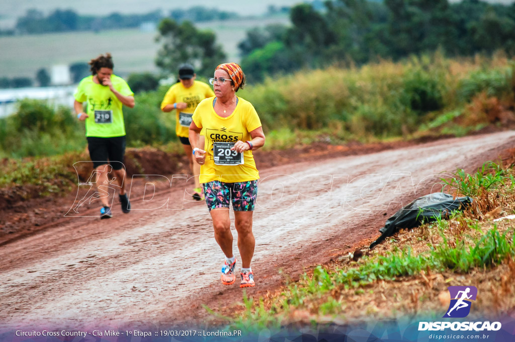
<path id="1" fill-rule="evenodd" d="M 435 221 L 437 217 L 446 218 L 453 211 L 465 209 L 472 201 L 470 197 L 454 198 L 444 193 L 433 193 L 417 198 L 386 221 L 385 226 L 379 230 L 382 233 L 381 236 L 370 245 L 370 248 L 398 232 L 399 229 L 419 227 L 423 223 Z"/>

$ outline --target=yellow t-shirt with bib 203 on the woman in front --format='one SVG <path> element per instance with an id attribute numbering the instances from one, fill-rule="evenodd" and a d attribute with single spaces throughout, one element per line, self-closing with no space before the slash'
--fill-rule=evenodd
<path id="1" fill-rule="evenodd" d="M 249 101 L 238 97 L 236 108 L 228 117 L 221 117 L 213 109 L 214 97 L 200 102 L 193 113 L 193 122 L 205 136 L 205 164 L 200 167 L 200 183 L 219 180 L 226 183 L 259 179 L 252 151 L 243 158 L 229 148 L 238 140 L 251 140 L 250 133 L 261 127 L 258 113 Z"/>

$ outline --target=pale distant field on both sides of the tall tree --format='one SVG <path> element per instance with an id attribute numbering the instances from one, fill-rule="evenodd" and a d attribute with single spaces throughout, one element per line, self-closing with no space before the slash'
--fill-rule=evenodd
<path id="1" fill-rule="evenodd" d="M 222 44 L 228 60 L 238 61 L 237 44 L 246 31 L 270 23 L 286 24 L 288 19 L 232 20 L 198 25 L 211 29 Z M 115 73 L 126 76 L 133 72 L 156 72 L 154 60 L 160 47 L 157 32 L 124 29 L 75 33 L 48 33 L 44 35 L 0 37 L 0 77 L 35 77 L 41 68 L 56 64 L 87 62 L 99 54 L 113 55 Z"/>

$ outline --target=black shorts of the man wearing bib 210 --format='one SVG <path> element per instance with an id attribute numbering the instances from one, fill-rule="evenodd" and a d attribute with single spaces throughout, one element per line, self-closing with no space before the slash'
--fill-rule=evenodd
<path id="1" fill-rule="evenodd" d="M 87 136 L 88 150 L 93 162 L 93 168 L 100 165 L 111 164 L 113 170 L 123 167 L 125 156 L 125 135 L 113 136 L 112 138 L 99 138 L 97 136 Z"/>

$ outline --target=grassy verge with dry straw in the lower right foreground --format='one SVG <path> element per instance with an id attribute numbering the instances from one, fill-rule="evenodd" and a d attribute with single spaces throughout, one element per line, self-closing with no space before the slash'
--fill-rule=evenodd
<path id="1" fill-rule="evenodd" d="M 293 322 L 441 317 L 450 285 L 478 287 L 476 314 L 507 312 L 515 304 L 515 226 L 493 218 L 515 212 L 514 173 L 493 163 L 472 175 L 457 170 L 447 182 L 450 191 L 473 196 L 467 211 L 401 231 L 358 261 L 347 255 L 319 265 L 267 298 L 244 296 L 237 315 L 226 319 L 259 331 Z"/>

